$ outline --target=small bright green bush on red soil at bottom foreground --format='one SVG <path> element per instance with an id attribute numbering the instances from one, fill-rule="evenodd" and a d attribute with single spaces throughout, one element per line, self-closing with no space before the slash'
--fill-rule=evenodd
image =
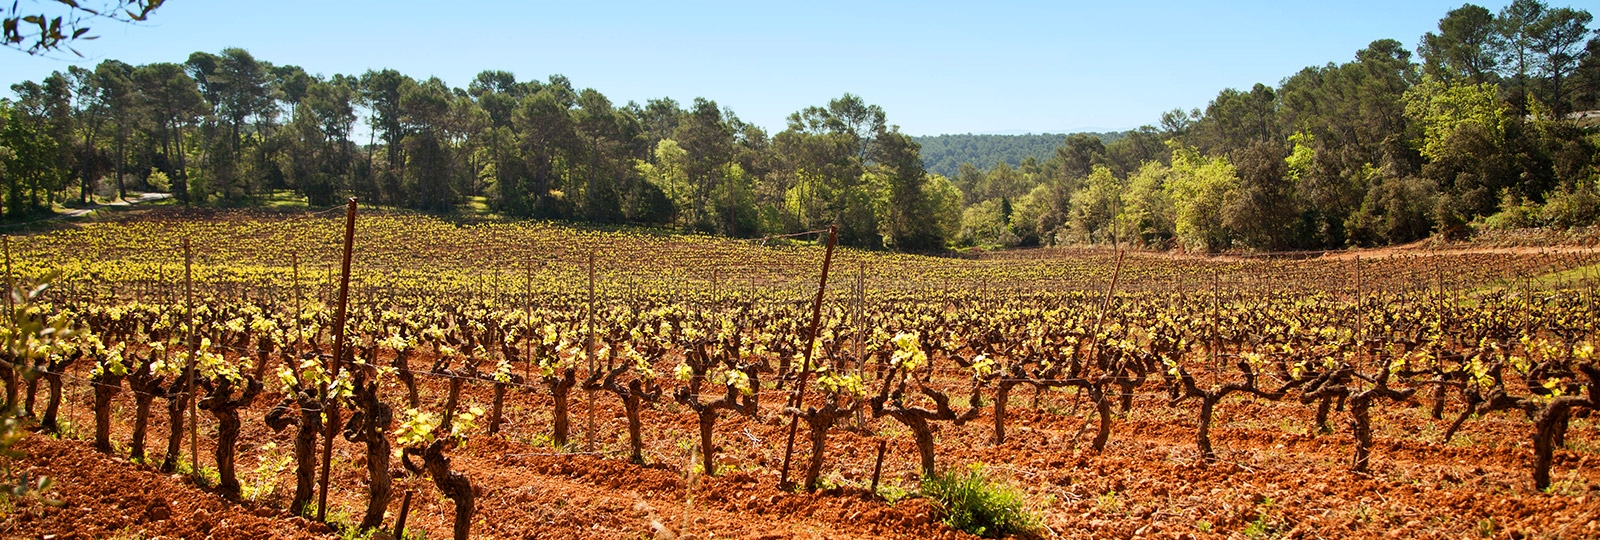
<path id="1" fill-rule="evenodd" d="M 979 537 L 1032 535 L 1043 519 L 1026 495 L 990 479 L 982 465 L 952 470 L 922 481 L 922 494 L 939 503 L 944 524 Z"/>

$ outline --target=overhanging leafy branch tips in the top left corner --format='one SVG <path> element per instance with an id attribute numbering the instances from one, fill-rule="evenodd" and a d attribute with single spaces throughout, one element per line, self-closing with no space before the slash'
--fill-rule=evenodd
<path id="1" fill-rule="evenodd" d="M 37 6 L 43 3 L 43 6 Z M 142 22 L 163 0 L 102 0 L 102 2 L 29 2 L 21 8 L 13 2 L 10 10 L 0 8 L 0 42 L 27 54 L 46 54 L 58 50 L 72 51 L 77 40 L 93 40 L 90 22 Z"/>

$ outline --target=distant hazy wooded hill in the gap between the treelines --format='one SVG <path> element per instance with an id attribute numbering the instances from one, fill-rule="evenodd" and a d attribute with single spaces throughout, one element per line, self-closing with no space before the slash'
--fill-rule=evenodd
<path id="1" fill-rule="evenodd" d="M 1123 137 L 1123 133 L 1090 134 L 1106 144 Z M 1000 161 L 1018 166 L 1027 157 L 1038 161 L 1050 160 L 1067 134 L 942 134 L 912 139 L 922 144 L 922 163 L 930 173 L 955 176 L 962 163 L 968 161 L 979 169 L 989 169 Z"/>

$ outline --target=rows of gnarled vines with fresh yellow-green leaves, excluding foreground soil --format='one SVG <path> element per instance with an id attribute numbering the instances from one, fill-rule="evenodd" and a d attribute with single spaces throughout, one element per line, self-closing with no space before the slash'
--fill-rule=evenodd
<path id="1" fill-rule="evenodd" d="M 16 320 L 77 332 L 3 351 L 6 407 L 59 430 L 62 385 L 83 379 L 94 447 L 126 447 L 162 471 L 181 467 L 186 419 L 203 411 L 218 427 L 210 459 L 227 498 L 240 497 L 242 423 L 293 430 L 296 514 L 315 506 L 317 468 L 326 467 L 317 451 L 338 431 L 365 455 L 360 529 L 384 527 L 398 463 L 394 471 L 430 479 L 454 503 L 456 538 L 470 532 L 474 479 L 450 454 L 474 436 L 501 436 L 515 393 L 547 396 L 549 423 L 536 428 L 557 451 L 581 449 L 574 431 L 592 451 L 570 396 L 613 395 L 627 431 L 616 459 L 634 463 L 650 462 L 642 412 L 672 404 L 698 427 L 704 474 L 723 463 L 718 439 L 734 436 L 718 420 L 794 419 L 805 427 L 795 468 L 805 489 L 819 486 L 837 430 L 902 427 L 928 476 L 939 470 L 941 423 L 989 423 L 1003 444 L 1006 409 L 1027 391 L 1085 399 L 1093 451 L 1138 436 L 1117 431 L 1131 407 L 1187 411 L 1202 463 L 1218 459 L 1210 430 L 1224 399 L 1298 404 L 1314 411 L 1310 430 L 1349 431 L 1354 471 L 1382 459 L 1371 422 L 1379 404 L 1446 420 L 1443 441 L 1474 419 L 1509 415 L 1526 422 L 1538 489 L 1552 482 L 1570 422 L 1600 409 L 1600 260 L 1589 252 L 1131 257 L 1125 270 L 1106 252 L 843 252 L 813 340 L 818 248 L 379 216 L 358 228 L 349 347 L 333 369 L 333 280 L 318 273 L 328 259 L 285 248 L 315 244 L 331 228 L 317 219 L 178 219 L 16 243 L 19 280 L 56 283 L 18 304 Z M 192 305 L 170 246 L 184 233 L 211 240 Z M 594 267 L 589 252 L 603 254 Z M 597 292 L 582 286 L 586 272 L 598 272 Z M 808 393 L 795 391 L 802 379 Z M 493 388 L 493 401 L 466 404 L 467 387 Z M 112 414 L 120 395 L 131 396 L 131 417 Z M 146 438 L 160 414 L 158 452 Z M 112 423 L 131 425 L 131 438 L 112 441 Z"/>

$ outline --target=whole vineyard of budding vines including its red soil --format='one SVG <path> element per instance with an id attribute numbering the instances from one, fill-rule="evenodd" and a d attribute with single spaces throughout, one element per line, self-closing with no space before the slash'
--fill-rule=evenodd
<path id="1" fill-rule="evenodd" d="M 354 224 L 10 236 L 0 534 L 1600 537 L 1592 249 Z"/>

